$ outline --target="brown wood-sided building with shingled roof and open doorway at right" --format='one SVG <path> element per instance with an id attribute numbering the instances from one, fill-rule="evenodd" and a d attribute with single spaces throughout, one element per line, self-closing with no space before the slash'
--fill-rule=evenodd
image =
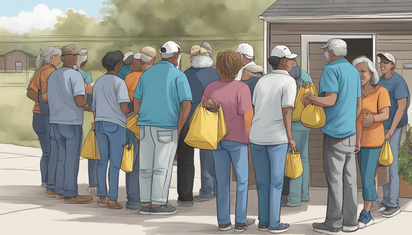
<path id="1" fill-rule="evenodd" d="M 316 87 L 327 64 L 320 47 L 331 38 L 340 38 L 347 43 L 349 62 L 356 56 L 368 56 L 379 75 L 377 54 L 392 53 L 396 72 L 412 89 L 411 0 L 277 0 L 260 19 L 264 21 L 265 61 L 273 47 L 288 46 L 299 55 L 298 63 L 309 72 Z M 264 68 L 267 72 L 267 63 Z M 327 186 L 322 153 L 323 133 L 312 129 L 310 186 Z"/>

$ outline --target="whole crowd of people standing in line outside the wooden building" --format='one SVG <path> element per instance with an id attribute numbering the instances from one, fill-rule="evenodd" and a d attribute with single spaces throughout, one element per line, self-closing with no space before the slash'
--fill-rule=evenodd
<path id="1" fill-rule="evenodd" d="M 323 160 L 328 182 L 328 209 L 324 223 L 314 230 L 334 234 L 364 228 L 373 223 L 370 209 L 377 199 L 377 159 L 383 142 L 390 141 L 394 162 L 390 182 L 384 186 L 382 215 L 399 213 L 398 146 L 409 91 L 395 72 L 392 54 L 378 54 L 382 77 L 375 65 L 362 56 L 352 64 L 345 59 L 346 43 L 332 39 L 321 47 L 328 65 L 323 68 L 319 96 L 306 93 L 302 102 L 321 106 L 326 124 L 321 129 Z M 300 121 L 292 121 L 297 89 L 312 79 L 296 63 L 296 54 L 286 46 L 272 49 L 267 62 L 271 71 L 254 63 L 253 47 L 239 44 L 236 51 L 218 53 L 207 42 L 190 50 L 191 67 L 178 70 L 184 52 L 176 42 L 159 49 L 156 63 L 153 47 L 139 53 L 110 51 L 102 59 L 107 72 L 91 86 L 84 72 L 87 50 L 74 44 L 48 47 L 39 54 L 37 71 L 27 96 L 34 100 L 33 128 L 42 146 L 42 186 L 46 195 L 66 203 L 89 203 L 89 195 L 78 195 L 77 172 L 82 145 L 83 107 L 94 113 L 101 160 L 89 160 L 89 192 L 98 205 L 121 209 L 117 202 L 123 145 L 133 143 L 133 170 L 126 174 L 126 209 L 145 215 L 176 214 L 193 202 L 217 198 L 218 228 L 231 230 L 230 163 L 236 173 L 236 232 L 255 223 L 246 216 L 248 158 L 253 159 L 259 200 L 258 230 L 282 233 L 281 206 L 300 206 L 309 201 L 309 132 Z M 56 69 L 63 61 L 63 67 Z M 90 90 L 92 89 L 92 92 Z M 389 92 L 388 92 L 389 91 Z M 225 115 L 227 135 L 216 150 L 200 150 L 201 188 L 193 195 L 194 148 L 184 140 L 198 105 Z M 137 138 L 127 130 L 126 117 L 138 114 Z M 364 114 L 364 115 L 361 115 Z M 249 151 L 251 156 L 249 156 Z M 303 174 L 284 178 L 286 153 L 300 150 Z M 177 205 L 168 202 L 175 154 L 178 157 Z M 364 209 L 357 214 L 355 154 L 361 169 Z M 106 172 L 109 168 L 109 188 Z M 333 187 L 332 187 L 333 185 Z M 218 195 L 219 192 L 219 195 Z"/>

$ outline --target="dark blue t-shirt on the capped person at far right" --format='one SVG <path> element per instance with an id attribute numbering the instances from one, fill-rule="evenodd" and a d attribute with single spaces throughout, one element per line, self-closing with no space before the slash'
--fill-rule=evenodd
<path id="1" fill-rule="evenodd" d="M 388 90 L 389 92 L 389 97 L 391 98 L 391 107 L 389 107 L 389 119 L 384 121 L 385 130 L 389 130 L 391 129 L 396 109 L 398 109 L 398 100 L 407 98 L 406 106 L 409 107 L 410 94 L 405 80 L 400 77 L 397 72 L 395 72 L 392 77 L 388 79 L 384 78 L 384 76 L 382 75 L 379 78 L 378 85 L 386 88 L 386 90 Z M 405 113 L 402 116 L 402 119 L 400 119 L 399 121 L 398 126 L 396 126 L 397 128 L 403 127 L 408 123 L 407 107 L 405 109 Z"/>

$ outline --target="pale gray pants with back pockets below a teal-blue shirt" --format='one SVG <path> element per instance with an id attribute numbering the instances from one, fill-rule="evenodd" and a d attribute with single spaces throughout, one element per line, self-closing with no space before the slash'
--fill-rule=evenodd
<path id="1" fill-rule="evenodd" d="M 178 130 L 140 126 L 140 201 L 164 205 L 169 195 Z"/>

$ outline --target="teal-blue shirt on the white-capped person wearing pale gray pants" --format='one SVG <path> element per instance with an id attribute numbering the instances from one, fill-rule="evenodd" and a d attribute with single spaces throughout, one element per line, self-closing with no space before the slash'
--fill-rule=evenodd
<path id="1" fill-rule="evenodd" d="M 180 103 L 192 102 L 192 92 L 186 75 L 169 61 L 162 60 L 147 69 L 133 94 L 142 100 L 138 126 L 176 129 Z"/>

